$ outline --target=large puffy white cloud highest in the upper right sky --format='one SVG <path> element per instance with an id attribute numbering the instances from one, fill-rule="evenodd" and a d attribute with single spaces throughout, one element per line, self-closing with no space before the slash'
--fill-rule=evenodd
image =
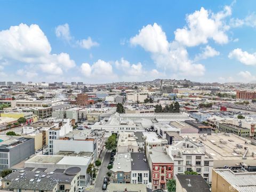
<path id="1" fill-rule="evenodd" d="M 185 27 L 175 30 L 175 40 L 185 46 L 206 44 L 209 39 L 213 39 L 218 44 L 228 43 L 226 31 L 229 27 L 223 19 L 229 15 L 231 15 L 230 6 L 225 6 L 223 11 L 216 14 L 201 7 L 201 10 L 187 15 Z"/>

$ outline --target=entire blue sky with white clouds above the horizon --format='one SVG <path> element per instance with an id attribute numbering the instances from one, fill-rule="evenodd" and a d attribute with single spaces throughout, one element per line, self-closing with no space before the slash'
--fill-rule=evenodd
<path id="1" fill-rule="evenodd" d="M 255 7 L 252 0 L 0 1 L 0 81 L 256 81 Z"/>

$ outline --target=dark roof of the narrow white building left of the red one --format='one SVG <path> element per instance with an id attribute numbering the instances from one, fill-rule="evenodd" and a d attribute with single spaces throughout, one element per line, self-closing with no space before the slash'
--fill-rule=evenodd
<path id="1" fill-rule="evenodd" d="M 144 153 L 132 153 L 132 171 L 149 171 Z"/>

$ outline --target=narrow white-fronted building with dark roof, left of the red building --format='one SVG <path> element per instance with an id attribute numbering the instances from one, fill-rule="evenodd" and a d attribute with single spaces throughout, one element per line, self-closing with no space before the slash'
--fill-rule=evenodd
<path id="1" fill-rule="evenodd" d="M 131 153 L 131 183 L 149 183 L 149 166 L 144 153 Z"/>

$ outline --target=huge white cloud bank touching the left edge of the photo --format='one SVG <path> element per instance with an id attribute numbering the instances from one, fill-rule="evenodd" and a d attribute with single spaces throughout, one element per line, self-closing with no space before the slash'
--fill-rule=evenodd
<path id="1" fill-rule="evenodd" d="M 34 65 L 47 74 L 62 74 L 75 67 L 69 54 L 51 54 L 51 45 L 38 25 L 21 23 L 0 31 L 0 58 Z"/>

